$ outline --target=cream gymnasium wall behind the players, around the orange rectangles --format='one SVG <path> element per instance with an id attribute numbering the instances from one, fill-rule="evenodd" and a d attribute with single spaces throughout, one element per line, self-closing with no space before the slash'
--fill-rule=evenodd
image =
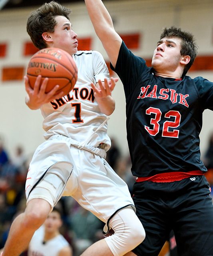
<path id="1" fill-rule="evenodd" d="M 162 28 L 171 25 L 189 30 L 197 38 L 200 55 L 213 54 L 213 1 L 212 0 L 129 0 L 104 1 L 118 33 L 142 33 L 141 46 L 135 54 L 151 58 Z M 93 36 L 92 49 L 100 51 L 108 60 L 101 42 L 96 38 L 88 18 L 84 1 L 82 4 L 66 5 L 72 8 L 71 22 L 79 37 Z M 26 20 L 31 9 L 0 11 L 0 43 L 8 42 L 8 56 L 0 59 L 0 68 L 24 64 L 23 42 L 29 40 Z M 213 72 L 189 72 L 192 77 L 204 76 L 213 81 Z M 0 136 L 4 136 L 6 148 L 12 152 L 22 144 L 29 154 L 44 141 L 40 110 L 29 110 L 24 103 L 24 81 L 0 81 Z M 121 82 L 117 83 L 113 96 L 115 112 L 109 120 L 109 135 L 117 139 L 123 154 L 128 152 L 125 130 L 125 99 Z M 213 131 L 213 113 L 205 111 L 201 132 L 201 152 L 205 152 L 207 140 Z"/>

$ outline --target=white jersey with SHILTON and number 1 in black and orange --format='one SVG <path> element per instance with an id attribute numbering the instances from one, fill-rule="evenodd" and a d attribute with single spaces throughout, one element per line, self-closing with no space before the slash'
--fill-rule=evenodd
<path id="1" fill-rule="evenodd" d="M 74 89 L 68 95 L 44 104 L 41 108 L 43 128 L 46 131 L 44 138 L 62 134 L 84 143 L 106 120 L 106 115 L 100 112 L 90 84 L 96 84 L 99 79 L 104 81 L 105 77 L 109 79 L 109 72 L 99 52 L 78 51 L 73 58 L 78 67 L 78 80 Z M 105 143 L 106 151 L 111 146 L 107 123 L 87 142 L 94 147 L 100 143 Z"/>

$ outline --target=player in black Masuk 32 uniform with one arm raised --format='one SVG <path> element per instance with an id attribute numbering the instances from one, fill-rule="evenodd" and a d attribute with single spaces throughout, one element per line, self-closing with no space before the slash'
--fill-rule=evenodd
<path id="1" fill-rule="evenodd" d="M 157 256 L 171 230 L 181 256 L 213 255 L 213 204 L 199 133 L 213 110 L 213 82 L 190 78 L 193 36 L 165 28 L 152 67 L 127 49 L 101 0 L 85 0 L 96 34 L 125 92 L 133 199 L 146 238 L 128 256 Z"/>

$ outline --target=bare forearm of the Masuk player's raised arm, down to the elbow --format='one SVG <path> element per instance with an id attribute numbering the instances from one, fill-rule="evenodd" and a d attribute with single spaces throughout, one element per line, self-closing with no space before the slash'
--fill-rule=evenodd
<path id="1" fill-rule="evenodd" d="M 88 14 L 97 36 L 102 40 L 113 29 L 112 19 L 101 0 L 85 0 Z"/>

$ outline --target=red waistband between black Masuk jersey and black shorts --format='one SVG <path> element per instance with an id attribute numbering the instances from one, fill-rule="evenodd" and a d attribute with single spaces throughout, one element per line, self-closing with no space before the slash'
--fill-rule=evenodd
<path id="1" fill-rule="evenodd" d="M 190 176 L 204 175 L 203 172 L 196 170 L 190 172 L 165 172 L 149 177 L 136 177 L 136 182 L 152 181 L 152 182 L 173 182 L 189 178 Z"/>

